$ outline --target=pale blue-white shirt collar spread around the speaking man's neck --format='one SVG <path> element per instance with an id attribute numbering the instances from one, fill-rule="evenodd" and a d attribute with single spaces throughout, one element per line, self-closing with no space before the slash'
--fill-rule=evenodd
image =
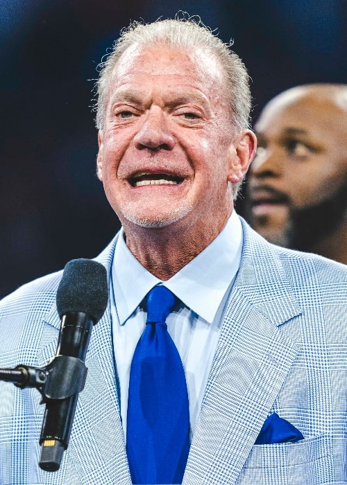
<path id="1" fill-rule="evenodd" d="M 230 283 L 239 269 L 242 224 L 232 211 L 226 226 L 203 252 L 163 284 L 185 306 L 212 323 Z M 146 294 L 162 283 L 130 253 L 121 229 L 112 263 L 112 285 L 119 324 L 123 325 Z"/>

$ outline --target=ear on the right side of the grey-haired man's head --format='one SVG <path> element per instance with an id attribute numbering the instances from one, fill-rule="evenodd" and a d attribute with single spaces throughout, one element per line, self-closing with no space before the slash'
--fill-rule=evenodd
<path id="1" fill-rule="evenodd" d="M 243 130 L 232 143 L 228 182 L 237 184 L 244 179 L 257 150 L 257 138 L 252 130 Z"/>

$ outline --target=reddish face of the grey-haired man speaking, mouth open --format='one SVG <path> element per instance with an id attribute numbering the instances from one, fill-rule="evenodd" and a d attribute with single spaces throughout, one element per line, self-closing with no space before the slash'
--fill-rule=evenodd
<path id="1" fill-rule="evenodd" d="M 223 227 L 230 182 L 248 168 L 224 91 L 217 63 L 198 53 L 135 46 L 122 55 L 99 132 L 98 174 L 123 225 Z"/>

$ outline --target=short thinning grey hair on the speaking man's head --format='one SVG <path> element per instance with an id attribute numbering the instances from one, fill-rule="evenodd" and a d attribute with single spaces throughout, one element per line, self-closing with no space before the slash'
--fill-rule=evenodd
<path id="1" fill-rule="evenodd" d="M 106 60 L 99 64 L 99 80 L 96 81 L 96 127 L 101 130 L 105 118 L 107 90 L 112 72 L 121 55 L 133 44 L 153 46 L 166 44 L 195 52 L 200 48 L 205 55 L 215 58 L 226 73 L 226 95 L 229 97 L 232 124 L 235 128 L 247 128 L 251 111 L 249 76 L 242 60 L 219 37 L 196 17 L 176 16 L 175 19 L 158 19 L 151 24 L 133 21 L 121 31 Z"/>

